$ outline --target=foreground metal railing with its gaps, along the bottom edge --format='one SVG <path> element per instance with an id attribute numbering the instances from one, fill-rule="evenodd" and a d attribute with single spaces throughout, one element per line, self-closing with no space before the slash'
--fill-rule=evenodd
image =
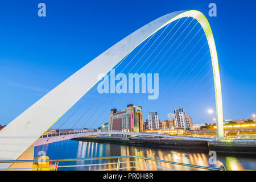
<path id="1" fill-rule="evenodd" d="M 130 159 L 132 160 L 127 160 L 123 161 L 122 159 Z M 142 162 L 139 162 L 137 160 L 141 159 Z M 117 162 L 106 162 L 106 163 L 90 163 L 90 164 L 75 164 L 75 165 L 63 165 L 60 166 L 60 162 L 65 163 L 65 162 L 82 162 L 82 161 L 95 161 L 95 160 L 117 160 Z M 205 169 L 205 170 L 210 170 L 210 171 L 225 171 L 225 167 L 221 165 L 220 167 L 214 168 L 214 167 L 205 167 L 205 166 L 196 166 L 192 164 L 184 164 L 184 163 L 176 163 L 176 162 L 171 162 L 167 160 L 159 160 L 159 159 L 152 159 L 152 158 L 146 158 L 142 156 L 111 156 L 111 157 L 102 157 L 102 158 L 80 158 L 80 159 L 49 159 L 49 160 L 1 160 L 1 163 L 37 163 L 37 162 L 54 162 L 55 164 L 52 164 L 52 166 L 49 167 L 31 167 L 31 168 L 0 168 L 0 170 L 35 170 L 35 169 L 50 169 L 52 171 L 56 171 L 60 168 L 72 168 L 72 167 L 88 167 L 88 170 L 92 170 L 92 167 L 94 166 L 101 166 L 104 167 L 106 165 L 109 165 L 112 167 L 115 165 L 115 167 L 112 168 L 102 168 L 102 169 L 95 169 L 94 171 L 119 171 L 119 170 L 127 170 L 127 169 L 134 169 L 134 170 L 143 170 L 143 171 L 150 171 L 154 170 L 152 167 L 155 168 L 155 170 L 171 170 L 171 171 L 176 171 L 174 168 L 168 168 L 168 167 L 163 167 L 160 166 L 160 164 L 172 164 L 174 166 L 185 166 L 189 168 L 196 168 L 196 169 Z M 155 162 L 156 165 L 150 164 L 150 162 Z M 130 164 L 132 166 L 123 166 L 123 164 Z M 136 164 L 140 164 L 138 167 Z M 142 168 L 144 166 L 144 168 Z M 165 165 L 166 166 L 166 165 Z M 60 169 L 61 170 L 61 169 Z M 77 169 L 79 170 L 79 169 Z M 40 171 L 40 170 L 39 170 Z"/>

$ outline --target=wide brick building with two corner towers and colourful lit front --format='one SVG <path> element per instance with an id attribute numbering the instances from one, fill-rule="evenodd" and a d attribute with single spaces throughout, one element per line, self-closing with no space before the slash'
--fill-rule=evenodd
<path id="1" fill-rule="evenodd" d="M 117 111 L 117 109 L 112 109 L 110 112 L 109 130 L 124 132 L 142 131 L 142 107 L 129 104 L 127 105 L 127 109 L 124 110 Z"/>

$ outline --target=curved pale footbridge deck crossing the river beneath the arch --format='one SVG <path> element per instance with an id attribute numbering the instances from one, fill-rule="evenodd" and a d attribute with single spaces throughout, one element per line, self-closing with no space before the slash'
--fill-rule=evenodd
<path id="1" fill-rule="evenodd" d="M 214 138 L 203 138 L 203 137 L 181 137 L 177 135 L 170 135 L 170 134 L 156 134 L 156 133 L 148 133 L 148 132 L 123 132 L 123 131 L 101 131 L 101 132 L 84 132 L 84 131 L 63 131 L 59 133 L 51 133 L 51 134 L 44 134 L 40 137 L 36 142 L 33 144 L 34 146 L 40 146 L 42 144 L 48 144 L 53 142 L 59 142 L 62 140 L 72 139 L 72 138 L 79 138 L 79 137 L 87 137 L 92 135 L 141 135 L 141 136 L 148 136 L 148 137 L 167 137 L 167 138 L 174 138 L 174 139 L 186 139 L 186 140 L 201 140 L 201 141 L 208 141 L 212 142 Z"/>

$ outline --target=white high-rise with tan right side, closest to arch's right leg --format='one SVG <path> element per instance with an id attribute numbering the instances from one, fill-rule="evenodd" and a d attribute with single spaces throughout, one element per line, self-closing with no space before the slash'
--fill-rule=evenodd
<path id="1" fill-rule="evenodd" d="M 187 117 L 186 110 L 183 108 L 174 109 L 174 118 L 176 127 L 191 129 L 193 127 L 192 118 Z"/>

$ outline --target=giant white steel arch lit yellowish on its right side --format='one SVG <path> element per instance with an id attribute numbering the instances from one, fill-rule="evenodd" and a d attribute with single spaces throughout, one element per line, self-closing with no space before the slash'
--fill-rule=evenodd
<path id="1" fill-rule="evenodd" d="M 195 18 L 203 27 L 208 40 L 214 76 L 217 136 L 218 138 L 222 138 L 224 131 L 221 82 L 212 30 L 207 18 L 200 11 L 175 11 L 146 24 L 122 39 L 67 78 L 60 85 L 56 86 L 46 96 L 35 102 L 35 104 L 10 122 L 0 132 L 0 160 L 18 159 L 28 147 L 97 83 L 100 73 L 108 73 L 110 69 L 117 65 L 119 61 L 149 36 L 168 23 L 184 17 Z"/>

